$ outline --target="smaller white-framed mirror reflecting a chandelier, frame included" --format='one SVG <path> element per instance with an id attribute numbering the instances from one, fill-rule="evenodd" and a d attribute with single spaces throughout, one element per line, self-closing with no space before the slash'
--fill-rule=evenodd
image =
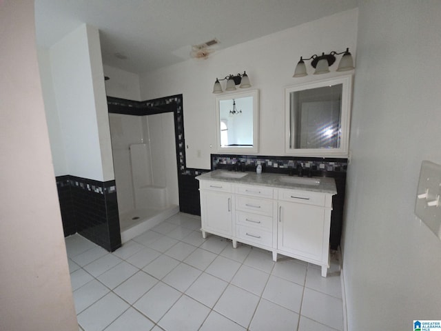
<path id="1" fill-rule="evenodd" d="M 258 90 L 216 97 L 216 150 L 220 153 L 258 151 Z"/>

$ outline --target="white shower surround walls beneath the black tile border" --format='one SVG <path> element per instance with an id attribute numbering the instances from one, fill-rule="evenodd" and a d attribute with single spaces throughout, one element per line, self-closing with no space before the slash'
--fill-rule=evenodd
<path id="1" fill-rule="evenodd" d="M 119 213 L 157 208 L 159 200 L 178 205 L 173 113 L 109 118 Z M 161 189 L 140 190 L 145 186 Z"/>

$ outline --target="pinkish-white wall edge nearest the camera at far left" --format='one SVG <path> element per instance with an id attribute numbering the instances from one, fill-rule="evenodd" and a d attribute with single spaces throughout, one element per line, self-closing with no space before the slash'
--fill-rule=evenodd
<path id="1" fill-rule="evenodd" d="M 1 1 L 0 22 L 0 330 L 78 330 L 33 1 Z"/>

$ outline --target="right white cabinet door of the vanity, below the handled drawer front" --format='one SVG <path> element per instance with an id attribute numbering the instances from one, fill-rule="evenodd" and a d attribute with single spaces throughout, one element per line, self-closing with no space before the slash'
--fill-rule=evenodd
<path id="1" fill-rule="evenodd" d="M 322 261 L 325 210 L 316 205 L 279 201 L 278 250 Z"/>

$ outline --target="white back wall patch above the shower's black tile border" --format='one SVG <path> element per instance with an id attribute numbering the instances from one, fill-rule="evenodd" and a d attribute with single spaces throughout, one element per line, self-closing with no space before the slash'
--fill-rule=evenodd
<path id="1" fill-rule="evenodd" d="M 141 91 L 139 90 L 138 74 L 106 65 L 103 66 L 103 70 L 105 76 L 110 78 L 105 81 L 105 93 L 107 96 L 143 101 L 141 100 Z"/>

